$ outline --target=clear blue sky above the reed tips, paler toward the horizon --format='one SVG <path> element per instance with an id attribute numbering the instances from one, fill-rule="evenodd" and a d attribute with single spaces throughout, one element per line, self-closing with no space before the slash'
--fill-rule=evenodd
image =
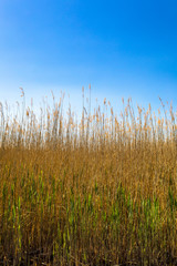
<path id="1" fill-rule="evenodd" d="M 101 103 L 176 108 L 177 1 L 0 0 L 0 101 L 63 90 L 75 108 L 90 83 Z"/>

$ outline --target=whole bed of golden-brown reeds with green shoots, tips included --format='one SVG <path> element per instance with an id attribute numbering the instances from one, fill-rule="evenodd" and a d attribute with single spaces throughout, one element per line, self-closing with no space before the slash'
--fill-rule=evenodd
<path id="1" fill-rule="evenodd" d="M 1 104 L 0 265 L 177 265 L 177 116 L 159 104 L 83 103 L 81 121 L 63 98 Z"/>

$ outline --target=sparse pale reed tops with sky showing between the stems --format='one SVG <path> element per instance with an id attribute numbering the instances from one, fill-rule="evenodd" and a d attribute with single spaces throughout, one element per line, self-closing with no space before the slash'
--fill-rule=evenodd
<path id="1" fill-rule="evenodd" d="M 91 90 L 91 88 L 90 88 Z M 114 140 L 117 145 L 138 145 L 146 140 L 152 143 L 168 142 L 173 145 L 177 143 L 177 113 L 173 105 L 168 106 L 168 112 L 159 98 L 163 112 L 158 109 L 158 115 L 153 112 L 150 104 L 148 109 L 137 105 L 133 109 L 132 99 L 124 99 L 123 111 L 119 114 L 114 113 L 110 101 L 104 99 L 103 112 L 101 105 L 91 112 L 91 93 L 87 110 L 84 105 L 83 89 L 83 110 L 81 120 L 77 121 L 77 114 L 72 112 L 71 104 L 66 115 L 63 112 L 64 94 L 55 102 L 53 92 L 53 108 L 44 104 L 40 109 L 40 114 L 35 114 L 31 108 L 25 106 L 24 91 L 21 89 L 23 98 L 22 106 L 17 105 L 17 112 L 11 113 L 8 104 L 6 106 L 0 102 L 0 146 L 27 149 L 65 146 L 74 147 L 84 142 L 87 146 L 94 141 L 100 146 L 101 143 L 110 143 Z"/>

